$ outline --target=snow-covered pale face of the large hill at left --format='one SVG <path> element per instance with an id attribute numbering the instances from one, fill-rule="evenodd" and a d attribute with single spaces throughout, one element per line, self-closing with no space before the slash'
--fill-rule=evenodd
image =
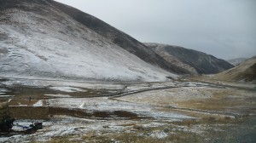
<path id="1" fill-rule="evenodd" d="M 52 3 L 0 1 L 0 77 L 153 82 L 170 76 Z"/>

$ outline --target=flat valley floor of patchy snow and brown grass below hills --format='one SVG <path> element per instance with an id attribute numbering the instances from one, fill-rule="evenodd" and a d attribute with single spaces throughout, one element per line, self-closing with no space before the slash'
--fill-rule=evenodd
<path id="1" fill-rule="evenodd" d="M 39 86 L 40 85 L 40 86 Z M 46 107 L 44 129 L 1 142 L 255 142 L 255 86 L 170 81 L 75 83 L 5 79 L 0 100 Z M 15 123 L 28 125 L 38 119 Z M 32 117 L 32 116 L 31 116 Z M 37 118 L 36 116 L 33 116 Z M 21 117 L 20 117 L 21 118 Z M 22 131 L 14 126 L 16 131 Z"/>

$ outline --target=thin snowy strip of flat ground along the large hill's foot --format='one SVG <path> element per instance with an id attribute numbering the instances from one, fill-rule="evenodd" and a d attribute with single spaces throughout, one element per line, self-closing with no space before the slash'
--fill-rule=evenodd
<path id="1" fill-rule="evenodd" d="M 84 89 L 108 89 L 108 90 L 124 90 L 124 91 L 134 91 L 143 89 L 158 89 L 164 87 L 177 87 L 187 85 L 187 83 L 177 83 L 174 81 L 164 82 L 164 83 L 93 83 L 84 81 L 74 81 L 74 80 L 63 80 L 63 79 L 53 79 L 53 78 L 42 78 L 38 79 L 36 77 L 30 78 L 6 78 L 6 80 L 0 82 L 6 86 L 20 85 L 20 86 L 31 86 L 38 88 L 49 88 L 56 90 L 84 90 Z M 1 91 L 1 89 L 0 89 Z M 84 90 L 85 91 L 85 90 Z M 5 90 L 2 91 L 7 92 Z"/>

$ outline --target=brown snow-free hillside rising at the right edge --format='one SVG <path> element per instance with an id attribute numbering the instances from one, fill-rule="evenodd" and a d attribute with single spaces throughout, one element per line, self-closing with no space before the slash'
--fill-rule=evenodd
<path id="1" fill-rule="evenodd" d="M 228 71 L 218 73 L 214 78 L 232 82 L 256 83 L 256 56 Z"/>

